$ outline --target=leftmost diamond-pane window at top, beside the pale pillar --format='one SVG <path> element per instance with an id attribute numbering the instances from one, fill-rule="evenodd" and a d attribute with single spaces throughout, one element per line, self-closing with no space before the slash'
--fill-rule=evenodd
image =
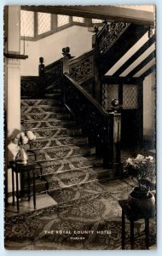
<path id="1" fill-rule="evenodd" d="M 20 11 L 20 36 L 34 36 L 34 12 Z"/>

